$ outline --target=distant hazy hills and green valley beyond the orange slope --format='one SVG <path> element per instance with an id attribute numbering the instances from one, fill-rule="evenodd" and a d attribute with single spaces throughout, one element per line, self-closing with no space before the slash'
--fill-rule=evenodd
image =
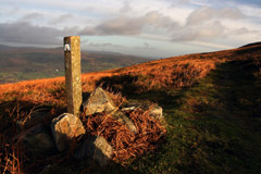
<path id="1" fill-rule="evenodd" d="M 0 84 L 63 76 L 63 48 L 0 45 Z M 82 51 L 82 72 L 124 67 L 151 60 L 116 52 Z"/>

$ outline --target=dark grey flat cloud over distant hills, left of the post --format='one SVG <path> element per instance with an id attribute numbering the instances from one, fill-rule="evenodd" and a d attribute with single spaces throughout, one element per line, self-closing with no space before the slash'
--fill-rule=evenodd
<path id="1" fill-rule="evenodd" d="M 0 30 L 1 42 L 61 45 L 61 37 L 72 35 L 76 28 L 57 29 L 32 25 L 28 22 L 15 22 L 0 23 Z"/>

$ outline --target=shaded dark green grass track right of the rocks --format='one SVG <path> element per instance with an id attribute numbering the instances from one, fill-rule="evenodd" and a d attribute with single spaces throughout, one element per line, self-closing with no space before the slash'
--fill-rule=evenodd
<path id="1" fill-rule="evenodd" d="M 158 151 L 127 169 L 134 173 L 261 173 L 261 86 L 252 73 L 240 62 L 227 62 L 191 88 L 139 95 L 163 107 L 169 133 Z"/>

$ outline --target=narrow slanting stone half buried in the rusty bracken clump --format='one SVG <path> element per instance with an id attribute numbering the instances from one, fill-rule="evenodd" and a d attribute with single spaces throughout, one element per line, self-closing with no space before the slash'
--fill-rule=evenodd
<path id="1" fill-rule="evenodd" d="M 123 125 L 126 125 L 127 128 L 133 132 L 134 134 L 137 134 L 137 127 L 134 125 L 133 121 L 127 117 L 123 112 L 115 111 L 111 113 L 111 116 L 115 119 L 117 122 L 122 123 Z"/>

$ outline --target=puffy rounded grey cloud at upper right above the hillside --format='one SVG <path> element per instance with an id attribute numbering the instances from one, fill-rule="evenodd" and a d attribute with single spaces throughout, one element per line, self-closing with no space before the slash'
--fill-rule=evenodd
<path id="1" fill-rule="evenodd" d="M 238 20 L 244 17 L 244 14 L 238 9 L 212 9 L 202 7 L 191 12 L 187 17 L 186 24 L 173 32 L 172 39 L 174 41 L 192 41 L 224 37 L 229 33 L 220 21 L 224 18 Z"/>

